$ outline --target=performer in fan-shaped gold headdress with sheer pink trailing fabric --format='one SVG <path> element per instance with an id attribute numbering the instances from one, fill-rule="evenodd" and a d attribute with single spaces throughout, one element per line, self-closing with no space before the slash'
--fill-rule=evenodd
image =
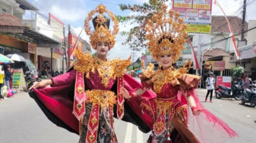
<path id="1" fill-rule="evenodd" d="M 195 91 L 200 77 L 186 74 L 188 62 L 178 70 L 172 67 L 185 49 L 187 26 L 182 22 L 179 13 L 167 11 L 166 5 L 152 16 L 146 26 L 146 39 L 152 57 L 160 63 L 159 69 L 154 71 L 150 64 L 140 76 L 143 86 L 135 92 L 122 88 L 121 93 L 130 95 L 129 99 L 149 88 L 156 93 L 156 98 L 141 103 L 143 113 L 154 122 L 148 143 L 223 143 L 238 135 L 200 103 Z"/>

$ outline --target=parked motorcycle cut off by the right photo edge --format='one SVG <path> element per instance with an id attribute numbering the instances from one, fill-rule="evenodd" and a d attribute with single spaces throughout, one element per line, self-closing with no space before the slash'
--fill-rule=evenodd
<path id="1" fill-rule="evenodd" d="M 256 81 L 250 81 L 251 89 L 244 89 L 244 96 L 242 97 L 241 104 L 250 103 L 251 107 L 256 106 Z"/>

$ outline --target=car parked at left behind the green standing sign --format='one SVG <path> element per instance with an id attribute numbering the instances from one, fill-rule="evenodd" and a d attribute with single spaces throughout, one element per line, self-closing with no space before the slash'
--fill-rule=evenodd
<path id="1" fill-rule="evenodd" d="M 11 68 L 22 68 L 23 73 L 29 71 L 33 75 L 38 75 L 37 68 L 30 60 L 24 61 L 14 61 L 14 63 L 9 64 Z"/>

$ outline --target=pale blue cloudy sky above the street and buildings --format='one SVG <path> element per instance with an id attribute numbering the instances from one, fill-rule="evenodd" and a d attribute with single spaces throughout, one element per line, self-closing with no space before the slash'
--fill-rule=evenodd
<path id="1" fill-rule="evenodd" d="M 148 2 L 148 0 L 28 0 L 37 6 L 40 11 L 45 13 L 52 13 L 61 21 L 63 21 L 66 25 L 70 24 L 77 35 L 80 33 L 83 25 L 84 20 L 87 17 L 87 14 L 96 8 L 97 5 L 103 3 L 107 6 L 107 9 L 112 11 L 115 15 L 132 15 L 131 11 L 121 11 L 119 8 L 119 3 L 122 4 L 142 4 L 144 2 Z M 101 1 L 101 2 L 99 2 Z M 214 1 L 214 0 L 213 0 Z M 167 2 L 167 5 L 169 5 Z M 243 10 L 243 0 L 218 0 L 219 4 L 224 9 L 226 15 L 237 15 L 242 17 L 241 11 Z M 246 21 L 248 20 L 256 20 L 256 0 L 247 0 L 249 5 L 246 9 Z M 136 13 L 135 13 L 136 14 Z M 223 15 L 221 10 L 218 6 L 212 5 L 212 15 Z M 130 24 L 119 24 L 119 32 L 121 31 L 128 31 L 134 25 Z M 110 24 L 111 27 L 111 24 Z M 82 39 L 89 42 L 89 36 L 85 34 L 83 31 L 81 34 Z M 120 57 L 121 59 L 127 59 L 132 50 L 129 49 L 128 45 L 122 45 L 122 42 L 125 41 L 125 37 L 117 34 L 116 36 L 116 44 L 113 49 L 110 50 L 109 59 L 114 59 L 115 57 Z M 142 51 L 136 52 L 134 60 L 138 57 L 141 57 L 141 53 L 144 52 L 146 49 Z M 94 52 L 94 51 L 93 51 Z"/>

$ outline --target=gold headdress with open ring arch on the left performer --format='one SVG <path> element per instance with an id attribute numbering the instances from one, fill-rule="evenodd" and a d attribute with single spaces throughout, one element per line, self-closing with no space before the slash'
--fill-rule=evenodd
<path id="1" fill-rule="evenodd" d="M 97 18 L 94 18 L 94 31 L 90 31 L 90 20 L 95 13 L 99 13 Z M 103 13 L 107 13 L 111 20 L 114 22 L 113 31 L 109 30 L 109 20 Z M 93 49 L 96 49 L 98 42 L 107 42 L 109 44 L 109 49 L 113 48 L 115 45 L 115 35 L 118 33 L 118 21 L 115 15 L 107 10 L 106 6 L 100 4 L 95 10 L 90 11 L 88 17 L 84 21 L 85 32 L 90 36 L 90 44 Z"/>

